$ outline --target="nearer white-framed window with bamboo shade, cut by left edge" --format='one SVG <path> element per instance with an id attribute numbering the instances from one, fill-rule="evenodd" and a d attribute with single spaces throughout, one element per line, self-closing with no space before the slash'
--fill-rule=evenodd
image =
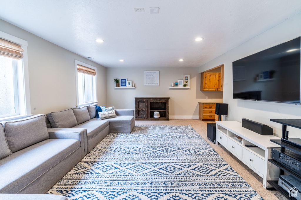
<path id="1" fill-rule="evenodd" d="M 30 114 L 27 41 L 0 31 L 0 121 Z"/>

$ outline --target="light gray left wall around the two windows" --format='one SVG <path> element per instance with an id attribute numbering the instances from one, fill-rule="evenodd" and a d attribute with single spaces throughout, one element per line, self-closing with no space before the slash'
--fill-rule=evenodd
<path id="1" fill-rule="evenodd" d="M 0 20 L 0 31 L 28 42 L 32 114 L 47 114 L 76 106 L 75 59 L 97 68 L 98 102 L 107 104 L 105 67 L 3 20 Z"/>

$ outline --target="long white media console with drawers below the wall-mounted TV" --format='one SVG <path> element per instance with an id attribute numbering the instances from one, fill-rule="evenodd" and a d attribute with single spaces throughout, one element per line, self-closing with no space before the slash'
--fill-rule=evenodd
<path id="1" fill-rule="evenodd" d="M 234 138 L 240 136 L 242 141 Z M 271 159 L 271 148 L 280 147 L 271 142 L 278 139 L 274 135 L 260 135 L 241 126 L 237 121 L 216 121 L 216 144 L 222 144 L 241 162 L 250 167 L 263 178 L 263 187 L 268 187 L 268 180 L 278 180 L 279 168 L 268 162 Z M 246 147 L 253 144 L 257 147 Z"/>

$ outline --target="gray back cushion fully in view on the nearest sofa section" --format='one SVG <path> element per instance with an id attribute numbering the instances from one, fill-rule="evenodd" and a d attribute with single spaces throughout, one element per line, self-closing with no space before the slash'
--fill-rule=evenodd
<path id="1" fill-rule="evenodd" d="M 4 130 L 12 153 L 49 138 L 45 115 L 4 122 Z"/>

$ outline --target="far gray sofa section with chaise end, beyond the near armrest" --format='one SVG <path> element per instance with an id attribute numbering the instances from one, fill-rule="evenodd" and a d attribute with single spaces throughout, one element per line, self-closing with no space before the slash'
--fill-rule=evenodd
<path id="1" fill-rule="evenodd" d="M 89 153 L 109 133 L 130 133 L 135 126 L 134 110 L 115 110 L 117 117 L 105 120 L 96 118 L 95 105 L 70 108 L 47 114 L 51 131 L 84 129 L 85 154 Z"/>

